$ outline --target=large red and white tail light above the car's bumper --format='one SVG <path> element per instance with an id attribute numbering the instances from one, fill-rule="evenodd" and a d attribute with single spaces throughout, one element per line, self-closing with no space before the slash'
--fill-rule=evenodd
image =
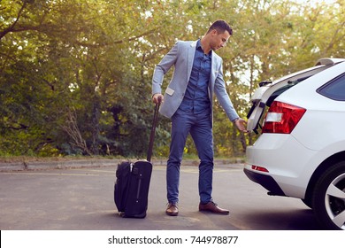
<path id="1" fill-rule="evenodd" d="M 290 134 L 304 112 L 305 109 L 295 105 L 273 102 L 265 116 L 263 133 Z"/>

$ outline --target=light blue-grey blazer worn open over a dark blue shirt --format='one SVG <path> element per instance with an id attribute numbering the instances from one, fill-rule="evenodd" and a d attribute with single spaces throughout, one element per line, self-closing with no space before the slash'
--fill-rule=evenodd
<path id="1" fill-rule="evenodd" d="M 162 83 L 165 74 L 174 66 L 173 78 L 165 89 L 164 101 L 159 112 L 171 118 L 180 106 L 185 95 L 196 52 L 196 42 L 177 42 L 165 57 L 155 67 L 152 77 L 152 96 L 162 94 Z M 223 107 L 229 120 L 238 118 L 237 112 L 226 92 L 223 79 L 223 60 L 212 51 L 211 75 L 209 81 L 209 97 L 211 102 L 211 118 L 213 117 L 213 93 Z"/>

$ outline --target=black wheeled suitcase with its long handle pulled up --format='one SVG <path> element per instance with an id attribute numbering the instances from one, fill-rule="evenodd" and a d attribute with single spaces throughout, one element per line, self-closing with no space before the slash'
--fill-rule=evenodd
<path id="1" fill-rule="evenodd" d="M 146 160 L 135 162 L 123 161 L 116 169 L 114 186 L 114 202 L 119 215 L 126 218 L 145 218 L 148 209 L 149 182 L 152 174 L 153 142 L 158 119 L 160 101 L 155 107 L 151 133 L 149 136 L 149 150 Z"/>

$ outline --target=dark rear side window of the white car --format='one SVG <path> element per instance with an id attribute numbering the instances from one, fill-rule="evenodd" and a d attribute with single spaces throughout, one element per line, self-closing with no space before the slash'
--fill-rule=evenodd
<path id="1" fill-rule="evenodd" d="M 345 74 L 327 82 L 317 92 L 337 101 L 345 101 Z"/>

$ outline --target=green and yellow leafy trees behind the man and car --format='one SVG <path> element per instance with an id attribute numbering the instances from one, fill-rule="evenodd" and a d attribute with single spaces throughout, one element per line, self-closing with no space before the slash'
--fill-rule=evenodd
<path id="1" fill-rule="evenodd" d="M 154 67 L 215 19 L 234 28 L 219 55 L 242 116 L 258 81 L 345 57 L 341 0 L 2 0 L 0 11 L 0 155 L 144 156 Z M 242 156 L 256 138 L 219 105 L 214 123 L 217 155 Z M 167 155 L 169 130 L 161 118 L 156 156 Z"/>

